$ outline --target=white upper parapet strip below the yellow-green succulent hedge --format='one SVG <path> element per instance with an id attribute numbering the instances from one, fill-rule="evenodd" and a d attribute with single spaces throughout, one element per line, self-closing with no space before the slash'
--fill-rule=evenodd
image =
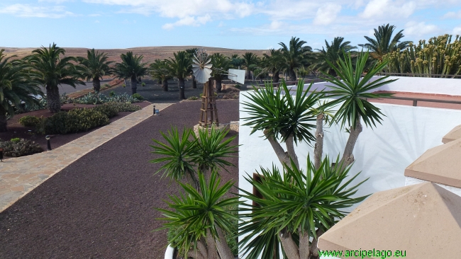
<path id="1" fill-rule="evenodd" d="M 374 76 L 372 80 L 376 80 L 383 76 Z M 407 76 L 389 76 L 389 79 L 398 79 L 373 91 L 396 91 L 396 92 L 409 92 L 409 93 L 435 93 L 435 94 L 446 94 L 450 96 L 461 96 L 461 79 L 433 79 L 426 77 L 407 77 Z M 321 82 L 313 84 L 311 91 L 313 90 L 330 90 L 328 86 L 332 86 L 331 83 Z M 304 88 L 307 88 L 309 84 L 305 84 Z M 291 88 L 295 90 L 296 86 Z"/>

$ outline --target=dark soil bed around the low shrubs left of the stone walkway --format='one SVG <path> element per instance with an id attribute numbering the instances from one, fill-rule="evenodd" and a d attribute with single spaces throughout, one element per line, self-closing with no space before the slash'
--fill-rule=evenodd
<path id="1" fill-rule="evenodd" d="M 133 103 L 133 104 L 144 108 L 150 105 L 151 103 L 143 102 L 143 103 Z M 74 108 L 93 108 L 94 106 L 96 105 L 65 104 L 61 106 L 61 110 L 72 110 Z M 109 122 L 114 122 L 120 119 L 121 117 L 125 117 L 128 114 L 130 114 L 130 112 L 118 113 L 118 115 L 116 115 L 115 117 L 112 117 L 109 120 Z M 30 113 L 21 113 L 21 114 L 14 115 L 14 117 L 11 120 L 7 121 L 8 132 L 0 132 L 0 139 L 4 141 L 10 140 L 16 137 L 21 138 L 21 139 L 30 139 L 33 142 L 40 144 L 43 150 L 46 150 L 47 144 L 46 144 L 45 136 L 41 134 L 35 134 L 33 127 L 24 127 L 23 125 L 19 123 L 19 119 L 21 119 L 21 117 L 24 117 L 26 115 L 37 116 L 37 117 L 40 117 L 40 116 L 50 117 L 51 115 L 53 115 L 53 113 L 50 113 L 47 109 L 43 109 L 43 110 L 35 110 Z M 89 132 L 92 132 L 96 129 L 99 129 L 99 127 L 90 129 L 87 132 L 79 132 L 79 133 L 65 134 L 65 135 L 52 135 L 50 139 L 51 148 L 55 149 L 59 146 L 62 146 L 63 144 L 72 142 L 72 140 L 78 139 L 79 137 L 82 137 L 85 134 L 88 134 Z"/>

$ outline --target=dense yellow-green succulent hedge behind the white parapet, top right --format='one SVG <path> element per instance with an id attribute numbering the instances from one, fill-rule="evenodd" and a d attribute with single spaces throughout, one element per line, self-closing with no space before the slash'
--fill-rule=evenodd
<path id="1" fill-rule="evenodd" d="M 412 43 L 400 51 L 383 56 L 387 61 L 386 71 L 391 73 L 425 74 L 428 77 L 440 74 L 440 77 L 454 77 L 461 72 L 461 38 L 457 35 L 452 42 L 452 35 L 442 35 L 426 40 L 420 40 L 417 45 Z"/>

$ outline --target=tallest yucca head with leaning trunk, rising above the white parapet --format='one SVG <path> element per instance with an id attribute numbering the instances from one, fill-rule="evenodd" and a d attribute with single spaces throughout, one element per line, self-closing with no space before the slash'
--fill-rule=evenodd
<path id="1" fill-rule="evenodd" d="M 368 59 L 368 52 L 362 51 L 359 53 L 357 64 L 352 63 L 350 52 L 344 52 L 343 57 L 339 59 L 338 64 L 333 64 L 326 60 L 338 77 L 324 74 L 323 79 L 333 84 L 333 86 L 330 86 L 333 90 L 328 91 L 328 96 L 336 99 L 331 102 L 331 105 L 340 105 L 335 113 L 335 120 L 340 122 L 341 127 L 347 126 L 349 131 L 348 142 L 341 159 L 341 163 L 348 166 L 354 161 L 352 151 L 360 132 L 362 132 L 360 120 L 363 120 L 365 126 L 370 127 L 376 127 L 376 122 L 381 124 L 381 115 L 383 114 L 379 108 L 367 99 L 391 96 L 390 93 L 371 93 L 371 91 L 397 79 L 386 80 L 389 76 L 384 76 L 370 81 L 375 74 L 386 67 L 387 62 L 382 62 L 379 65 L 374 62 L 367 74 L 362 77 Z"/>

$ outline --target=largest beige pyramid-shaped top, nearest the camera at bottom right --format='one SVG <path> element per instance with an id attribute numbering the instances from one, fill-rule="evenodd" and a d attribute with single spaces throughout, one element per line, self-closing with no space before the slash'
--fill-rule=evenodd
<path id="1" fill-rule="evenodd" d="M 318 248 L 343 251 L 340 258 L 348 251 L 366 251 L 363 258 L 382 258 L 382 251 L 392 258 L 396 251 L 407 259 L 461 258 L 460 226 L 461 197 L 421 183 L 374 193 L 326 231 Z"/>

